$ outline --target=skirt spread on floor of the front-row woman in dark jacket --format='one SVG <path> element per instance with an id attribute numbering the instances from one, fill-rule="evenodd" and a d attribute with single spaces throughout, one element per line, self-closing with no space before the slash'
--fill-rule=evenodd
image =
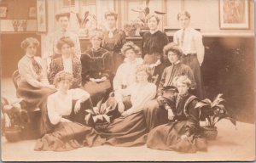
<path id="1" fill-rule="evenodd" d="M 207 140 L 192 134 L 187 140 L 181 139 L 186 132 L 187 121 L 170 122 L 156 126 L 148 133 L 147 146 L 150 149 L 175 150 L 183 153 L 207 151 Z"/>

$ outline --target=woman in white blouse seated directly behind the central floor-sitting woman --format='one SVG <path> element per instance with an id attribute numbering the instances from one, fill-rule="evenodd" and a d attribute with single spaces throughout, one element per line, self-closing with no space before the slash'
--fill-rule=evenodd
<path id="1" fill-rule="evenodd" d="M 113 90 L 118 91 L 131 86 L 136 82 L 136 67 L 143 65 L 143 59 L 137 58 L 140 49 L 133 42 L 126 42 L 121 52 L 125 55 L 125 61 L 119 65 L 113 78 Z"/>

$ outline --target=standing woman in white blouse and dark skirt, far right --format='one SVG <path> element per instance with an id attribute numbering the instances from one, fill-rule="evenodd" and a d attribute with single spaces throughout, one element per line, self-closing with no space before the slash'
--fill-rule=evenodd
<path id="1" fill-rule="evenodd" d="M 187 11 L 177 14 L 177 20 L 179 20 L 181 30 L 174 33 L 173 42 L 176 42 L 183 49 L 182 62 L 189 65 L 193 71 L 197 85 L 195 94 L 198 98 L 203 99 L 205 98 L 205 88 L 200 66 L 204 60 L 205 48 L 202 36 L 199 31 L 189 27 L 190 14 Z"/>

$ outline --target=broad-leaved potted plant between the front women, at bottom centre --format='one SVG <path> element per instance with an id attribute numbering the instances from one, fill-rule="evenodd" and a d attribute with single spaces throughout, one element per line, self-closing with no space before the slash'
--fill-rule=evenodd
<path id="1" fill-rule="evenodd" d="M 85 115 L 85 121 L 91 126 L 90 121 L 92 119 L 97 131 L 104 130 L 112 120 L 115 118 L 117 110 L 117 103 L 113 96 L 110 96 L 105 103 L 102 103 L 103 99 L 93 107 L 93 110 L 85 110 L 88 114 Z"/>

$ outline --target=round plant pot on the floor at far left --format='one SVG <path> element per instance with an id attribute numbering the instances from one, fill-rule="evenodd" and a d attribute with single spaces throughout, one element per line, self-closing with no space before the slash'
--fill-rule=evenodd
<path id="1" fill-rule="evenodd" d="M 10 128 L 6 128 L 5 129 L 5 138 L 9 141 L 9 142 L 17 142 L 20 140 L 20 127 L 18 126 L 13 126 Z"/>

